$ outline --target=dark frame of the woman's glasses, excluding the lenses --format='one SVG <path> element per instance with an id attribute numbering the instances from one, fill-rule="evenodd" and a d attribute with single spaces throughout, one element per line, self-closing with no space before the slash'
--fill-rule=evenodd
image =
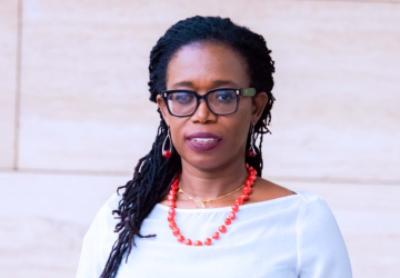
<path id="1" fill-rule="evenodd" d="M 212 111 L 212 109 L 210 108 L 209 103 L 208 103 L 208 96 L 214 91 L 220 91 L 220 90 L 234 90 L 236 91 L 236 95 L 238 96 L 237 98 L 237 106 L 236 106 L 236 109 L 234 111 L 232 112 L 229 112 L 229 113 L 216 113 L 214 111 Z M 196 96 L 196 99 L 197 99 L 197 106 L 193 110 L 192 113 L 190 115 L 174 115 L 171 112 L 169 106 L 168 106 L 168 96 L 171 95 L 171 93 L 174 93 L 174 92 L 191 92 L 191 93 L 194 93 Z M 236 113 L 238 111 L 238 107 L 239 107 L 239 99 L 240 97 L 254 97 L 256 96 L 256 89 L 254 88 L 216 88 L 216 89 L 212 89 L 212 90 L 209 90 L 208 92 L 206 92 L 204 95 L 200 96 L 198 95 L 196 91 L 190 91 L 190 90 L 164 90 L 164 91 L 161 91 L 160 92 L 162 99 L 164 100 L 166 102 L 166 106 L 167 106 L 167 109 L 168 109 L 168 112 L 174 117 L 180 117 L 180 118 L 183 118 L 183 117 L 191 117 L 196 113 L 197 109 L 199 108 L 200 106 L 200 100 L 204 100 L 206 105 L 207 105 L 207 108 L 210 110 L 210 112 L 212 112 L 213 115 L 218 115 L 218 116 L 224 116 L 224 115 L 231 115 L 231 113 Z"/>

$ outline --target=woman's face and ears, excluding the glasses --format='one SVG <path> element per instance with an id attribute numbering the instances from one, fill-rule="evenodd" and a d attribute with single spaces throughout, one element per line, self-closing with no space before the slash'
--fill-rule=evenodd
<path id="1" fill-rule="evenodd" d="M 167 90 L 191 90 L 204 95 L 216 88 L 248 88 L 250 77 L 243 58 L 224 44 L 189 44 L 172 57 L 167 69 Z M 259 119 L 267 95 L 241 97 L 237 112 L 216 116 L 203 100 L 193 116 L 171 116 L 158 97 L 162 116 L 182 163 L 202 170 L 244 163 L 246 141 L 251 123 Z"/>

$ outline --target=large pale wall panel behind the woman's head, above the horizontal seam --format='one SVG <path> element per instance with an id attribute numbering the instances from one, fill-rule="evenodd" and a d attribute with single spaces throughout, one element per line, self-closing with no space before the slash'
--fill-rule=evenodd
<path id="1" fill-rule="evenodd" d="M 156 136 L 151 47 L 178 19 L 221 14 L 276 60 L 267 177 L 396 183 L 400 6 L 330 1 L 26 1 L 21 165 L 131 171 Z"/>

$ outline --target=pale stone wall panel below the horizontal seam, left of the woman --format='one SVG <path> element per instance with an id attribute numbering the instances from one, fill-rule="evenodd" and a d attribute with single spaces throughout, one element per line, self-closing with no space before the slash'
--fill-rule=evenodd
<path id="1" fill-rule="evenodd" d="M 84 234 L 128 179 L 0 172 L 1 277 L 74 277 Z"/>

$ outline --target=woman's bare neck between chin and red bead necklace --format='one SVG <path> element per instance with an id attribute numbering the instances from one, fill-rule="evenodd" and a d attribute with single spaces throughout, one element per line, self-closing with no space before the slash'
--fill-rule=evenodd
<path id="1" fill-rule="evenodd" d="M 239 188 L 247 178 L 244 162 L 200 169 L 182 161 L 180 187 L 194 199 L 216 199 Z"/>

